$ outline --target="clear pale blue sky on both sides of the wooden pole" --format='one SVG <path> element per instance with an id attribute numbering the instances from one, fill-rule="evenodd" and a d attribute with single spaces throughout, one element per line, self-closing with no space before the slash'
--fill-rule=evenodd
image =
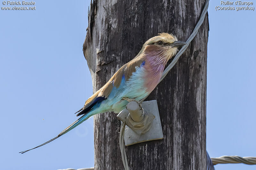
<path id="1" fill-rule="evenodd" d="M 256 157 L 256 13 L 215 11 L 217 5 L 211 1 L 208 10 L 207 150 L 211 157 Z M 89 1 L 36 1 L 35 6 L 35 11 L 0 10 L 1 168 L 92 167 L 92 118 L 44 147 L 18 153 L 59 134 L 92 95 L 82 52 Z"/>

